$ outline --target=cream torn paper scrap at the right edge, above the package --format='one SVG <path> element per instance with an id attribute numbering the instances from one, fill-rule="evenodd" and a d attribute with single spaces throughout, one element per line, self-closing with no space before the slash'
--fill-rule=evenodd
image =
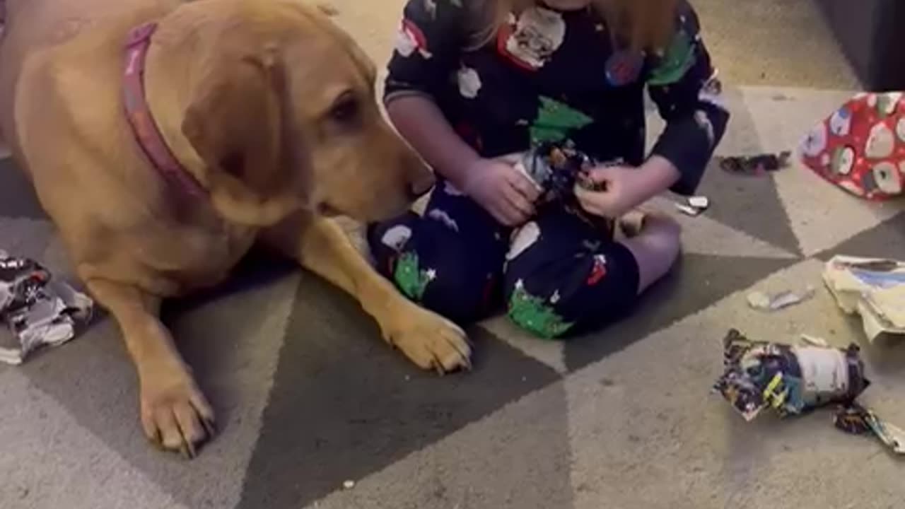
<path id="1" fill-rule="evenodd" d="M 824 283 L 843 312 L 861 315 L 868 340 L 905 334 L 905 262 L 834 256 Z"/>

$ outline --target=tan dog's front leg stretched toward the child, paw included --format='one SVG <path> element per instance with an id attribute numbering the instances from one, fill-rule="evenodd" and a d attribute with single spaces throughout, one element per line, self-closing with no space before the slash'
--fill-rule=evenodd
<path id="1" fill-rule="evenodd" d="M 263 240 L 357 298 L 384 339 L 418 366 L 440 372 L 471 367 L 472 349 L 462 329 L 396 291 L 335 221 L 297 216 L 266 232 Z"/>

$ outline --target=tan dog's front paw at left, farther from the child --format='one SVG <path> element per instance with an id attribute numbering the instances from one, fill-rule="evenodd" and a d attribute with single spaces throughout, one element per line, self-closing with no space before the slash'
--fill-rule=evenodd
<path id="1" fill-rule="evenodd" d="M 214 410 L 186 367 L 140 373 L 141 424 L 157 446 L 187 458 L 214 435 Z"/>

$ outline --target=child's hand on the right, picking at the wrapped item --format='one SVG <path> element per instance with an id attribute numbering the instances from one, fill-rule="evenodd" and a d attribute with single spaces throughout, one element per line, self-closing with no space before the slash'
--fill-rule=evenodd
<path id="1" fill-rule="evenodd" d="M 594 168 L 588 173 L 588 179 L 602 190 L 576 186 L 575 194 L 590 214 L 616 218 L 662 193 L 679 177 L 679 170 L 670 161 L 654 156 L 639 168 Z"/>

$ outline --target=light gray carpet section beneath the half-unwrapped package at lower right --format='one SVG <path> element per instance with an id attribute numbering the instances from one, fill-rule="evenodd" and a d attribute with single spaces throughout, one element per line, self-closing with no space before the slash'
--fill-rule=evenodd
<path id="1" fill-rule="evenodd" d="M 784 312 L 748 308 L 752 289 L 818 285 L 822 268 L 811 260 L 772 274 L 568 377 L 576 509 L 601 501 L 648 509 L 857 507 L 865 497 L 875 507 L 900 504 L 900 462 L 879 441 L 835 429 L 832 408 L 747 423 L 710 393 L 729 328 L 764 341 L 809 333 L 835 346 L 862 337 L 822 289 Z M 905 422 L 905 343 L 864 346 L 874 385 L 862 402 Z M 880 369 L 874 356 L 895 357 L 898 368 Z"/>

